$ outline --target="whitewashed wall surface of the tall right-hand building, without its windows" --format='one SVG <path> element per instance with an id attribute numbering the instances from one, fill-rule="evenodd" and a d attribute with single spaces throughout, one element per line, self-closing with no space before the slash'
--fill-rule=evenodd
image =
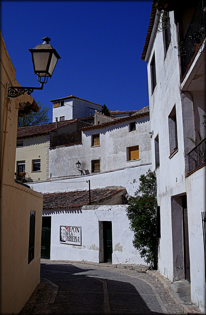
<path id="1" fill-rule="evenodd" d="M 200 306 L 201 310 L 205 311 L 204 252 L 200 219 L 200 212 L 204 203 L 201 191 L 204 191 L 204 189 L 202 187 L 202 177 L 199 178 L 197 174 L 190 175 L 186 180 L 187 187 L 185 184 L 186 154 L 194 146 L 187 138 L 192 137 L 194 139 L 195 136 L 193 104 L 191 95 L 180 92 L 178 49 L 174 48 L 178 46 L 179 40 L 174 23 L 174 12 L 170 12 L 170 20 L 171 42 L 166 55 L 163 49 L 163 32 L 157 32 L 154 36 L 154 43 L 150 46 L 151 52 L 147 60 L 151 130 L 154 132 L 152 139 L 153 169 L 155 169 L 154 139 L 157 135 L 159 138 L 160 166 L 156 168 L 157 200 L 160 206 L 161 220 L 158 270 L 171 281 L 176 280 L 177 270 L 183 271 L 184 262 L 182 257 L 178 260 L 179 253 L 176 252 L 176 244 L 174 243 L 175 238 L 179 239 L 179 242 L 182 240 L 182 230 L 180 228 L 175 229 L 175 225 L 177 227 L 179 223 L 174 212 L 177 211 L 177 214 L 178 208 L 172 208 L 172 202 L 175 198 L 180 198 L 182 194 L 186 193 L 191 262 L 191 299 L 193 303 Z M 154 54 L 156 87 L 152 94 L 151 61 Z M 196 97 L 196 99 L 198 98 Z M 168 116 L 174 105 L 176 106 L 177 116 L 178 151 L 170 157 Z M 200 106 L 202 106 L 202 101 Z M 181 209 L 179 211 L 181 213 Z M 180 247 L 178 250 L 180 251 Z M 182 253 L 180 254 L 182 255 Z M 181 275 L 184 276 L 183 272 L 181 272 Z"/>

